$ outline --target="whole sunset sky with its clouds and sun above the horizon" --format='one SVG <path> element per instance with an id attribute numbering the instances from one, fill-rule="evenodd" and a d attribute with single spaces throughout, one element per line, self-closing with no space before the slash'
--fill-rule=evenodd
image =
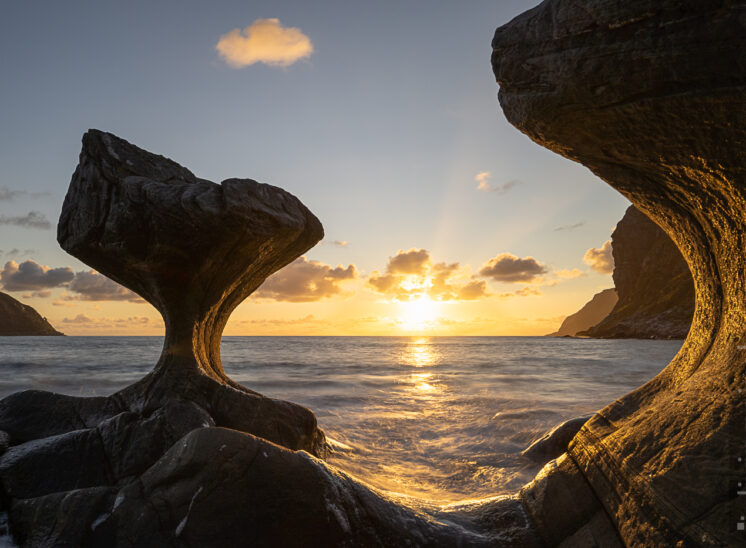
<path id="1" fill-rule="evenodd" d="M 0 19 L 0 290 L 69 335 L 161 335 L 67 255 L 80 139 L 282 187 L 325 239 L 226 335 L 541 335 L 612 287 L 629 203 L 505 120 L 495 28 L 536 0 L 8 2 Z"/>

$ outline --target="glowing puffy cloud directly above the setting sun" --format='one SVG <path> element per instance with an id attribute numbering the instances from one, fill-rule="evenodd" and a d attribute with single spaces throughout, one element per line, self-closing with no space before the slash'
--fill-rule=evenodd
<path id="1" fill-rule="evenodd" d="M 466 301 L 488 296 L 487 284 L 469 276 L 459 263 L 433 263 L 426 249 L 399 250 L 385 272 L 374 271 L 368 286 L 399 301 L 427 296 L 438 301 Z"/>

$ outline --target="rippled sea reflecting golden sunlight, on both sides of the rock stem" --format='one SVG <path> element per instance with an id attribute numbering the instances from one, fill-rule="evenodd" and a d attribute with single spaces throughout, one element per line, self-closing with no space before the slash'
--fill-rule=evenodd
<path id="1" fill-rule="evenodd" d="M 107 395 L 155 364 L 160 337 L 0 337 L 0 397 L 28 388 Z M 330 462 L 375 487 L 440 503 L 514 492 L 520 455 L 556 424 L 654 377 L 681 341 L 547 337 L 225 337 L 245 386 L 303 404 Z"/>

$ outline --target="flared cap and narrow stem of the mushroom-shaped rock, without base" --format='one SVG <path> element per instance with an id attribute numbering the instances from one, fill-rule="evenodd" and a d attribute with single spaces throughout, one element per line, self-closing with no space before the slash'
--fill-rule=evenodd
<path id="1" fill-rule="evenodd" d="M 153 304 L 166 323 L 158 371 L 226 381 L 233 309 L 323 237 L 294 196 L 251 179 L 215 184 L 110 133 L 83 137 L 57 239 Z"/>

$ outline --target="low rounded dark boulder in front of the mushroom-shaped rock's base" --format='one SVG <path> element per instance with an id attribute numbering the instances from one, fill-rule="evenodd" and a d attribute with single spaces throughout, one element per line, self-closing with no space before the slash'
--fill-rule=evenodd
<path id="1" fill-rule="evenodd" d="M 429 511 L 428 511 L 429 510 Z M 76 520 L 65 519 L 70 513 Z M 26 545 L 536 546 L 521 504 L 493 504 L 493 535 L 469 508 L 407 507 L 305 452 L 221 428 L 191 432 L 137 482 L 14 503 Z M 62 519 L 60 519 L 62 518 Z M 452 518 L 452 519 L 450 519 Z M 457 520 L 457 521 L 453 521 Z M 471 529 L 463 526 L 469 522 Z M 518 536 L 511 536 L 516 533 Z"/>

